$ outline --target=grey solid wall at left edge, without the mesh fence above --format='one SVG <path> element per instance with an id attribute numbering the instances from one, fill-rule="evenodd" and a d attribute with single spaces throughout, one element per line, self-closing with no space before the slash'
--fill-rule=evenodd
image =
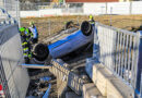
<path id="1" fill-rule="evenodd" d="M 0 57 L 11 98 L 25 98 L 29 78 L 23 63 L 17 24 L 0 28 Z"/>

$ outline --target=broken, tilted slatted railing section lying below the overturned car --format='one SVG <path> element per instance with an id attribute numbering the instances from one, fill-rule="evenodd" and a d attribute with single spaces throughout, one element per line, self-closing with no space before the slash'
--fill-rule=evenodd
<path id="1" fill-rule="evenodd" d="M 63 82 L 67 82 L 67 85 L 74 90 L 78 95 L 82 93 L 83 79 L 80 78 L 76 74 L 68 70 L 68 64 L 61 60 L 52 60 L 52 69 L 50 72 L 54 73 L 57 77 L 61 78 Z"/>

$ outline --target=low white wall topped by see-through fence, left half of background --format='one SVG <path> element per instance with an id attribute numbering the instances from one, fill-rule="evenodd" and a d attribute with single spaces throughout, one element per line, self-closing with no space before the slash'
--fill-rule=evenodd
<path id="1" fill-rule="evenodd" d="M 82 14 L 83 3 L 21 3 L 21 17 Z"/>

